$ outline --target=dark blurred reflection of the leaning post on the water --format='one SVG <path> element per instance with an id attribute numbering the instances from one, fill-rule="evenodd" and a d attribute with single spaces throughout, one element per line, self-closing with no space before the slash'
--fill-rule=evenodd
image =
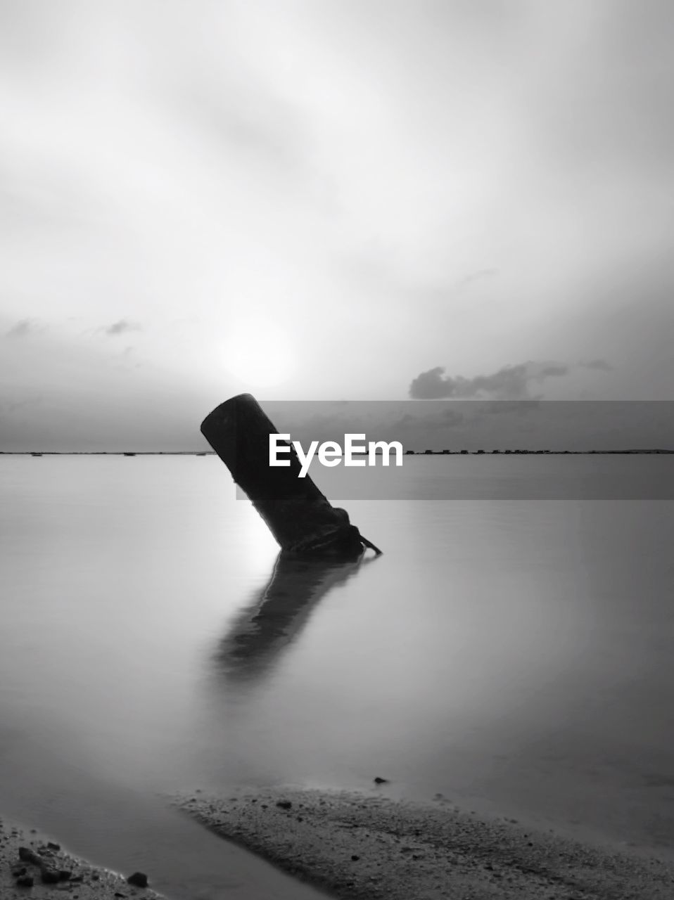
<path id="1" fill-rule="evenodd" d="M 305 626 L 316 603 L 355 575 L 360 565 L 328 557 L 278 554 L 269 583 L 241 611 L 218 648 L 218 668 L 232 680 L 259 677 Z"/>

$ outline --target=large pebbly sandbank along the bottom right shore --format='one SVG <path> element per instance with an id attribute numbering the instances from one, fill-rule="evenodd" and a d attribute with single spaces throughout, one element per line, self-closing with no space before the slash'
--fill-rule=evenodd
<path id="1" fill-rule="evenodd" d="M 298 788 L 196 792 L 176 806 L 343 900 L 671 900 L 670 862 L 590 847 L 442 797 L 421 805 Z"/>

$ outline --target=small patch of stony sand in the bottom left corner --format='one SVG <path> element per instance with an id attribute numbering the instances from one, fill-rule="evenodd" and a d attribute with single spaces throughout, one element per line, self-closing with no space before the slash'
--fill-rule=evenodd
<path id="1" fill-rule="evenodd" d="M 24 900 L 29 896 L 40 900 L 62 900 L 64 896 L 72 900 L 160 900 L 150 887 L 133 887 L 123 876 L 62 851 L 47 835 L 0 818 L 0 898 Z"/>

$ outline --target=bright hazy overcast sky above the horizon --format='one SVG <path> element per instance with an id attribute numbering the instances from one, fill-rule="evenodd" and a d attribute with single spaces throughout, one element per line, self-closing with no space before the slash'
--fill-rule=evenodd
<path id="1" fill-rule="evenodd" d="M 0 450 L 666 401 L 670 0 L 0 0 Z"/>

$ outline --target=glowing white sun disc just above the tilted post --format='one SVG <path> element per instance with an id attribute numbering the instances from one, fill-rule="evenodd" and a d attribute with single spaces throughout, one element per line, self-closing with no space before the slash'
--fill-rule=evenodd
<path id="1" fill-rule="evenodd" d="M 250 387 L 270 388 L 287 381 L 296 368 L 285 329 L 268 320 L 238 320 L 224 342 L 223 365 Z"/>

